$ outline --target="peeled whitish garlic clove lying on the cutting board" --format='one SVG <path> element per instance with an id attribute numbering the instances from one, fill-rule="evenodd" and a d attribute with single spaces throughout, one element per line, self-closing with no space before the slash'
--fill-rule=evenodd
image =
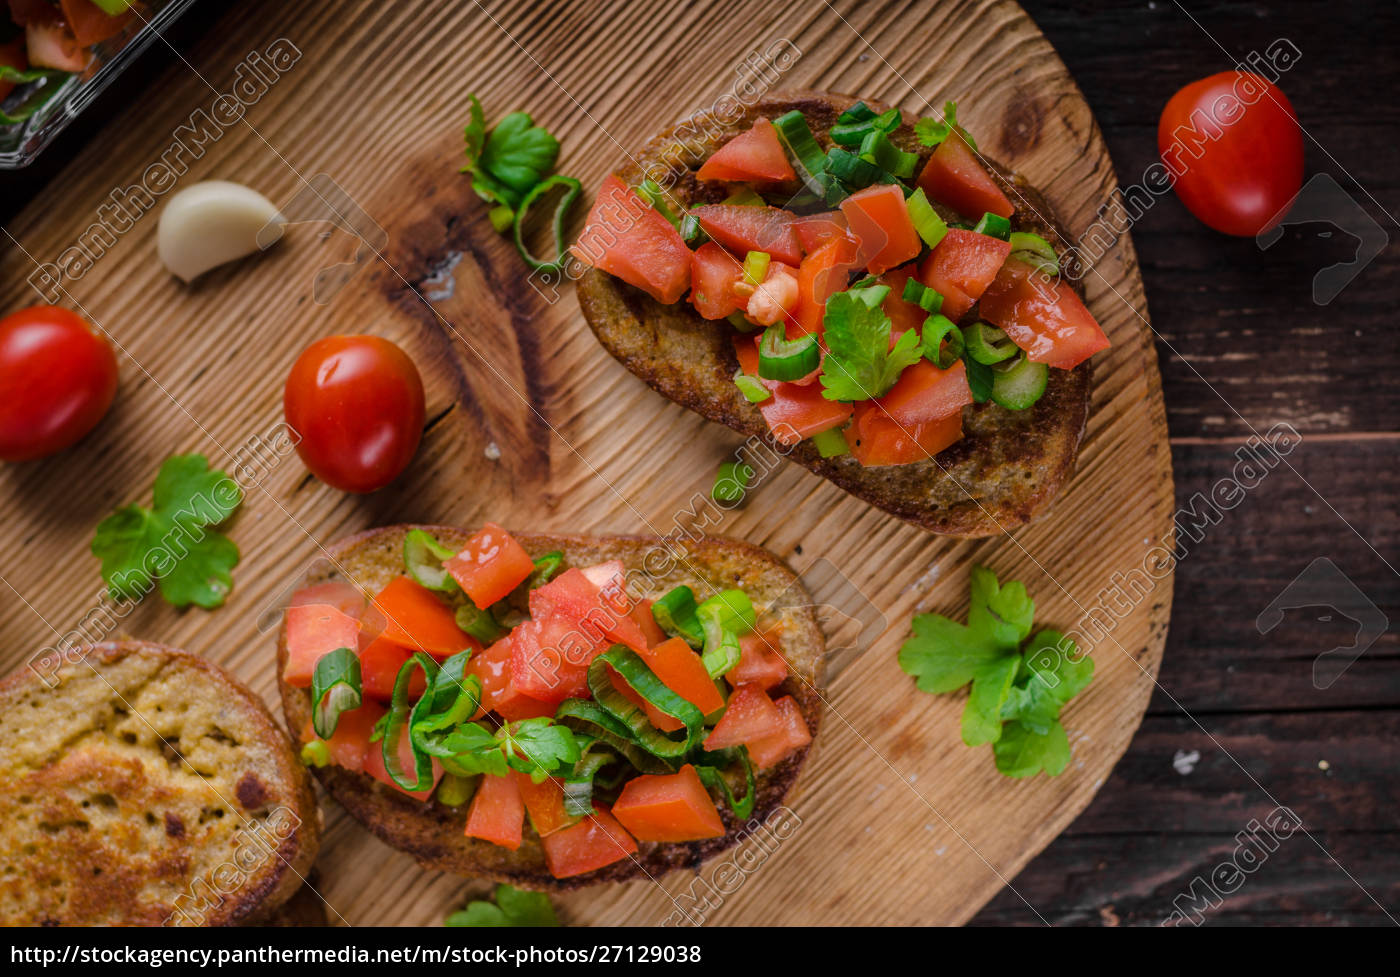
<path id="1" fill-rule="evenodd" d="M 224 179 L 185 188 L 161 211 L 157 251 L 171 274 L 182 281 L 260 251 L 259 231 L 284 218 L 258 190 Z M 270 235 L 263 234 L 266 241 Z M 280 234 L 272 237 L 272 241 Z"/>

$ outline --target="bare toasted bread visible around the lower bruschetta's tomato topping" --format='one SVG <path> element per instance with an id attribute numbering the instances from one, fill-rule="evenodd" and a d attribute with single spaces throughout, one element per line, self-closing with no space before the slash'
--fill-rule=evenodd
<path id="1" fill-rule="evenodd" d="M 403 537 L 410 529 L 427 529 L 448 547 L 459 549 L 469 532 L 448 526 L 386 526 L 351 536 L 330 547 L 335 570 L 309 578 L 308 584 L 325 579 L 349 579 L 374 593 L 403 572 Z M 777 557 L 750 543 L 732 539 L 700 539 L 697 542 L 664 543 L 651 536 L 556 536 L 549 533 L 511 533 L 521 546 L 538 557 L 552 550 L 564 554 L 567 565 L 587 567 L 603 560 L 622 560 L 629 571 L 645 572 L 648 585 L 657 593 L 682 584 L 704 598 L 717 589 L 742 588 L 756 607 L 770 607 L 781 619 L 783 642 L 778 651 L 788 662 L 790 676 L 781 687 L 771 690 L 774 698 L 791 694 L 806 717 L 808 728 L 816 735 L 822 693 L 819 690 L 826 642 L 816 623 L 811 598 L 797 577 Z M 666 558 L 666 553 L 676 554 Z M 645 571 L 643 564 L 645 563 Z M 668 564 L 672 564 L 668 567 Z M 279 641 L 277 672 L 286 668 L 286 628 Z M 311 721 L 311 696 L 305 689 L 281 684 L 281 700 L 287 722 L 297 736 Z M 808 749 L 790 756 L 759 774 L 755 820 L 763 820 L 783 803 L 797 781 Z M 706 858 L 739 841 L 748 822 L 732 817 L 725 805 L 720 806 L 727 834 L 708 841 L 687 844 L 643 843 L 634 858 L 615 862 L 608 868 L 571 879 L 554 879 L 545 868 L 545 854 L 539 837 L 525 824 L 525 841 L 519 850 L 466 837 L 466 805 L 451 808 L 431 799 L 416 801 L 378 782 L 367 774 L 326 766 L 316 768 L 321 782 L 365 827 L 389 845 L 406 851 L 428 869 L 469 875 L 496 882 L 510 882 L 526 889 L 561 892 L 596 882 L 622 882 L 634 878 L 658 878 L 675 868 L 697 865 Z M 742 792 L 743 785 L 736 785 Z"/>

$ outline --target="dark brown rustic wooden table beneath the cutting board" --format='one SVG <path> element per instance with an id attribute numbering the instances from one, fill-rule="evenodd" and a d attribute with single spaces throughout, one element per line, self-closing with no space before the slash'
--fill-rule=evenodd
<path id="1" fill-rule="evenodd" d="M 218 6 L 202 7 L 181 31 L 214 21 Z M 1331 175 L 1386 235 L 1400 232 L 1400 70 L 1366 53 L 1368 39 L 1400 28 L 1394 4 L 1331 4 L 1326 15 L 1308 0 L 1025 7 L 1084 88 L 1124 185 L 1155 158 L 1156 118 L 1173 91 L 1289 39 L 1302 57 L 1281 84 L 1310 136 L 1308 175 Z M 161 60 L 148 56 L 137 76 L 154 76 Z M 94 132 L 84 119 L 41 168 L 0 175 L 0 220 Z M 1333 211 L 1345 224 L 1344 209 Z M 1260 851 L 1238 854 L 1236 836 L 1287 805 L 1308 834 L 1246 864 L 1204 920 L 1387 922 L 1400 915 L 1397 628 L 1324 689 L 1313 665 L 1355 633 L 1345 616 L 1355 607 L 1317 603 L 1330 572 L 1319 558 L 1400 623 L 1400 385 L 1389 372 L 1400 347 L 1387 335 L 1396 248 L 1317 305 L 1313 276 L 1355 248 L 1326 223 L 1289 228 L 1263 251 L 1208 231 L 1166 197 L 1133 237 L 1159 333 L 1179 504 L 1231 473 L 1250 427 L 1287 421 L 1302 444 L 1291 468 L 1271 472 L 1190 544 L 1161 689 L 1137 739 L 1088 810 L 974 921 L 1161 921 L 1193 886 L 1204 892 L 1198 879 Z M 1264 634 L 1256 619 L 1281 595 L 1303 606 Z"/>

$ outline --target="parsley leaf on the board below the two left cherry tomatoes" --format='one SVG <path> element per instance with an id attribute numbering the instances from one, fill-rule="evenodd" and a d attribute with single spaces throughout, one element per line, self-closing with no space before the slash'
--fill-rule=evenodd
<path id="1" fill-rule="evenodd" d="M 216 530 L 244 493 L 203 455 L 174 455 L 155 476 L 151 508 L 123 505 L 98 523 L 92 554 L 113 598 L 139 600 L 158 585 L 176 607 L 217 607 L 232 589 L 238 546 Z"/>

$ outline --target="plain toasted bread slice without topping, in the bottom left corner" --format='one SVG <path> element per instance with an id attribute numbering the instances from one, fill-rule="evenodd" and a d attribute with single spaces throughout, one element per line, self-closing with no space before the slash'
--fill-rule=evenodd
<path id="1" fill-rule="evenodd" d="M 230 925 L 301 886 L 321 812 L 248 689 L 144 641 L 46 677 L 0 683 L 0 924 Z"/>

